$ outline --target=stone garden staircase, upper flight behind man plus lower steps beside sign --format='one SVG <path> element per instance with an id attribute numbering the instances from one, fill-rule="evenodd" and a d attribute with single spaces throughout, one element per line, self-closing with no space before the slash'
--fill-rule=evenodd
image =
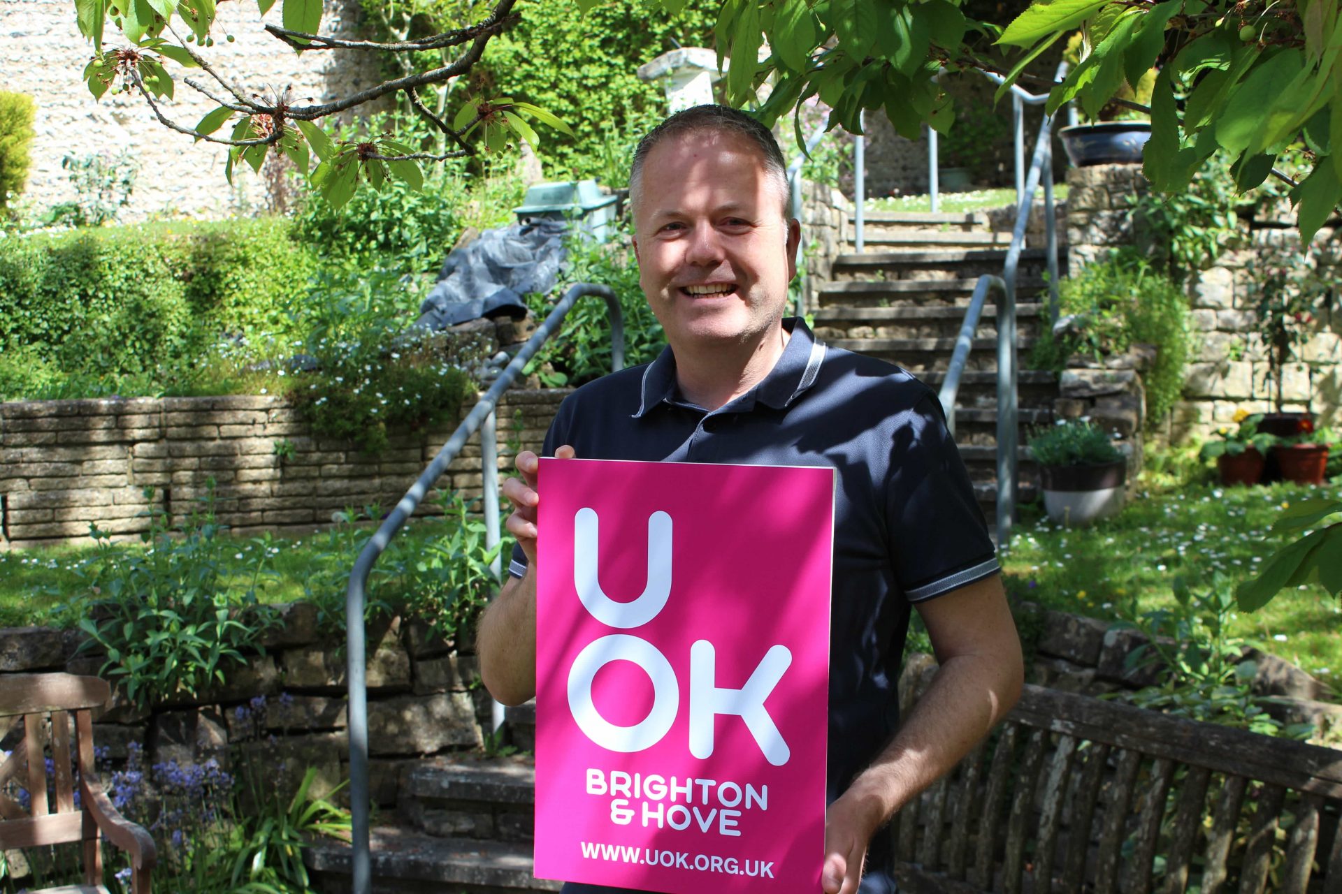
<path id="1" fill-rule="evenodd" d="M 988 229 L 981 214 L 871 214 L 867 251 L 840 255 L 832 281 L 817 292 L 816 332 L 837 347 L 896 362 L 938 389 L 974 283 L 981 273 L 1001 273 L 1008 243 L 1009 236 Z M 1044 263 L 1037 248 L 1021 257 L 1023 362 L 1043 320 Z M 996 500 L 994 316 L 994 308 L 985 310 L 956 410 L 957 442 L 989 520 Z M 1048 421 L 1056 393 L 1055 375 L 1021 373 L 1021 426 Z M 1033 480 L 1024 461 L 1021 477 L 1025 484 Z M 531 878 L 534 705 L 509 709 L 507 730 L 521 755 L 436 757 L 403 771 L 397 812 L 374 820 L 374 894 L 560 889 Z M 317 890 L 350 890 L 348 847 L 322 843 L 306 860 Z"/>

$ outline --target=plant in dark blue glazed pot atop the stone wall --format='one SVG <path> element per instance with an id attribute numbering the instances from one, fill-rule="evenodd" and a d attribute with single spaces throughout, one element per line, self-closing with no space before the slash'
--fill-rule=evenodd
<path id="1" fill-rule="evenodd" d="M 1084 32 L 1076 32 L 1067 42 L 1063 55 L 1071 63 L 1075 76 L 1084 72 L 1080 63 L 1090 52 Z M 1072 166 L 1139 165 L 1146 141 L 1151 138 L 1151 119 L 1146 113 L 1125 105 L 1125 101 L 1149 107 L 1154 88 L 1155 70 L 1149 68 L 1135 84 L 1125 82 L 1113 101 L 1099 109 L 1083 109 L 1086 123 L 1059 130 L 1063 150 Z"/>

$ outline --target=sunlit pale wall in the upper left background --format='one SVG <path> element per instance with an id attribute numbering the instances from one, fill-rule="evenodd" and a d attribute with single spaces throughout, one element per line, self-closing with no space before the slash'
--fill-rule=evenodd
<path id="1" fill-rule="evenodd" d="M 203 50 L 220 74 L 242 90 L 262 97 L 289 88 L 293 101 L 327 102 L 377 83 L 377 60 L 365 51 L 307 52 L 298 55 L 263 31 L 278 23 L 276 4 L 264 21 L 256 4 L 220 3 L 213 27 L 215 46 Z M 361 16 L 358 0 L 326 0 L 322 32 L 354 36 Z M 119 32 L 109 23 L 109 42 Z M 229 43 L 225 35 L 232 35 Z M 130 150 L 140 166 L 134 193 L 123 220 L 164 217 L 224 217 L 266 205 L 264 186 L 250 169 L 223 178 L 227 147 L 193 143 L 160 125 L 144 98 L 133 92 L 107 92 L 93 98 L 81 80 L 93 44 L 79 34 L 75 8 L 67 0 L 0 0 L 0 58 L 8 60 L 4 88 L 36 101 L 36 139 L 32 169 L 23 201 L 36 209 L 71 201 L 75 190 L 62 169 L 66 155 L 117 155 Z M 162 113 L 188 127 L 219 103 L 187 86 L 181 74 L 221 92 L 200 70 L 169 64 L 176 76 L 172 99 L 161 101 Z M 311 98 L 311 99 L 309 99 Z M 227 135 L 227 134 L 224 134 Z M 201 186 L 204 184 L 204 188 Z"/>

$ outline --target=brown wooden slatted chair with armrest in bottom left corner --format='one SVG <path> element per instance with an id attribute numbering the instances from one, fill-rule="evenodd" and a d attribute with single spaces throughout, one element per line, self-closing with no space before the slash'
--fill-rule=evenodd
<path id="1" fill-rule="evenodd" d="M 99 838 L 130 854 L 132 890 L 149 894 L 154 842 L 111 806 L 94 775 L 91 709 L 107 704 L 107 682 L 74 674 L 5 674 L 0 677 L 0 721 L 23 717 L 24 736 L 0 765 L 0 850 L 83 842 L 83 885 L 30 894 L 107 894 L 102 886 Z M 71 714 L 75 751 L 71 752 Z M 4 726 L 0 725 L 0 732 Z M 47 797 L 46 747 L 55 765 L 55 803 Z M 74 760 L 71 757 L 74 756 Z M 75 807 L 78 772 L 79 807 Z M 24 781 L 25 780 L 25 781 Z M 28 807 L 9 797 L 27 788 Z M 8 789 L 8 792 L 7 792 Z"/>

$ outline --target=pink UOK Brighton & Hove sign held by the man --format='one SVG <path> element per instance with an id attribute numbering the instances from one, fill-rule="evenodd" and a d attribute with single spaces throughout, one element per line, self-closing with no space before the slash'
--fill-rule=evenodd
<path id="1" fill-rule="evenodd" d="M 541 460 L 535 875 L 816 894 L 833 470 Z"/>

